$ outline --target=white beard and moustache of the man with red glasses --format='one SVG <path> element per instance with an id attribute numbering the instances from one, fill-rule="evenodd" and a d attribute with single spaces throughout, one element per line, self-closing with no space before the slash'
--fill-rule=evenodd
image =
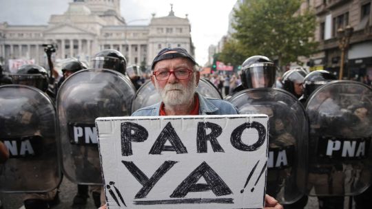
<path id="1" fill-rule="evenodd" d="M 161 95 L 161 99 L 163 100 L 165 106 L 189 104 L 194 99 L 194 94 L 196 91 L 196 76 L 192 76 L 192 79 L 187 84 L 187 87 L 180 83 L 167 83 L 163 89 L 160 89 L 157 80 L 155 80 L 155 87 L 158 93 Z"/>

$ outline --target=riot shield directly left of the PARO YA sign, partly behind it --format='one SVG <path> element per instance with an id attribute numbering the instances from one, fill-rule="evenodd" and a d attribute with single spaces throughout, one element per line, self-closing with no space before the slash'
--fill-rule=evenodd
<path id="1" fill-rule="evenodd" d="M 94 120 L 131 113 L 135 89 L 109 69 L 84 69 L 65 80 L 57 96 L 63 173 L 76 184 L 102 184 Z"/>

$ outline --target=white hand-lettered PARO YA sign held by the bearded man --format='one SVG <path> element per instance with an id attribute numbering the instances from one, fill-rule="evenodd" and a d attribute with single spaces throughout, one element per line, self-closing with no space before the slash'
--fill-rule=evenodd
<path id="1" fill-rule="evenodd" d="M 267 115 L 97 118 L 109 208 L 263 208 Z"/>

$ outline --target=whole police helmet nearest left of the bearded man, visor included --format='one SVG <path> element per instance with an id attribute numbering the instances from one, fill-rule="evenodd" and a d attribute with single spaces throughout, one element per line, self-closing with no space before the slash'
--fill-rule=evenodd
<path id="1" fill-rule="evenodd" d="M 93 69 L 113 69 L 116 72 L 125 74 L 127 60 L 117 50 L 102 50 L 94 55 L 91 64 Z"/>

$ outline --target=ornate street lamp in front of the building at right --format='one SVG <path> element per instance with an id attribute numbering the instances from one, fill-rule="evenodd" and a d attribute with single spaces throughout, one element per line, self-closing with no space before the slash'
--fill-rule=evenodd
<path id="1" fill-rule="evenodd" d="M 353 35 L 354 28 L 350 25 L 347 25 L 345 29 L 338 28 L 337 30 L 337 38 L 338 38 L 338 47 L 341 50 L 341 61 L 340 61 L 340 76 L 339 80 L 342 80 L 342 74 L 344 72 L 344 59 L 345 59 L 345 50 L 349 47 L 349 41 L 351 35 Z M 347 75 L 349 77 L 349 73 Z"/>

